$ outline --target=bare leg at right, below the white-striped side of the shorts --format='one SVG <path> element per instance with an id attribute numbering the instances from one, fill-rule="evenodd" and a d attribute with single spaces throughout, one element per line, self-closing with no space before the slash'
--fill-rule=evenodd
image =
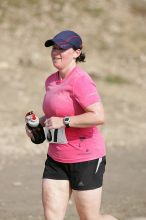
<path id="1" fill-rule="evenodd" d="M 80 220 L 117 220 L 111 215 L 100 214 L 102 187 L 94 190 L 73 191 Z"/>

